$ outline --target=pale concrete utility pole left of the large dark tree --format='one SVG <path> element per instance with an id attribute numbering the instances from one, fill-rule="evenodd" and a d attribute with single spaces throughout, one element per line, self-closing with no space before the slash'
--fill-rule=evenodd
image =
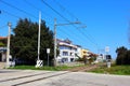
<path id="1" fill-rule="evenodd" d="M 11 23 L 8 23 L 8 26 L 9 26 L 9 35 L 8 35 L 8 48 L 6 48 L 6 68 L 10 67 L 9 57 L 10 57 Z"/>

